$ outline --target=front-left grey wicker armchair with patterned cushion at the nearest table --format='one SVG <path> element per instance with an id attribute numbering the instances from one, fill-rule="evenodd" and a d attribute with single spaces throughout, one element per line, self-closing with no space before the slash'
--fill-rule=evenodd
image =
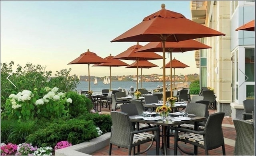
<path id="1" fill-rule="evenodd" d="M 112 127 L 111 127 L 111 135 L 109 142 L 109 155 L 112 152 L 112 144 L 122 147 L 128 148 L 128 155 L 142 154 L 148 151 L 154 141 L 156 142 L 156 155 L 159 155 L 159 128 L 152 127 L 148 129 L 143 129 L 139 131 L 134 131 L 132 127 L 132 122 L 130 121 L 129 115 L 127 113 L 119 112 L 119 111 L 111 111 L 110 112 L 112 119 Z M 154 134 L 147 133 L 154 131 Z M 135 152 L 135 146 L 140 144 L 144 144 L 146 142 L 151 142 L 151 144 L 142 152 Z"/>

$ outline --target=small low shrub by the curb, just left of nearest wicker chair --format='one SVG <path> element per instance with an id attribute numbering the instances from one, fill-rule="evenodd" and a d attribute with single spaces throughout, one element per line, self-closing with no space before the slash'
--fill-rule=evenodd
<path id="1" fill-rule="evenodd" d="M 88 113 L 81 115 L 78 119 L 94 121 L 95 125 L 100 128 L 103 134 L 111 131 L 112 120 L 109 114 Z"/>

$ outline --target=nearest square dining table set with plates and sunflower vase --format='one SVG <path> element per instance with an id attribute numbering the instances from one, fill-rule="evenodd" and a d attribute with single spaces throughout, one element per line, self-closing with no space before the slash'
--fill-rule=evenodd
<path id="1" fill-rule="evenodd" d="M 136 123 L 136 126 L 139 128 L 139 123 L 148 123 L 148 124 L 155 124 L 155 125 L 158 125 L 158 126 L 162 126 L 163 128 L 163 139 L 164 139 L 164 142 L 163 142 L 163 149 L 162 149 L 162 154 L 164 155 L 169 155 L 168 154 L 168 151 L 167 151 L 167 127 L 170 127 L 170 126 L 176 126 L 176 125 L 180 125 L 180 124 L 183 124 L 183 123 L 194 123 L 195 125 L 195 130 L 197 129 L 198 127 L 198 122 L 201 122 L 201 121 L 205 121 L 206 118 L 205 117 L 190 117 L 191 119 L 190 120 L 185 120 L 185 121 L 179 121 L 179 122 L 176 122 L 176 121 L 171 121 L 172 119 L 174 119 L 174 116 L 169 116 L 167 121 L 162 121 L 160 116 L 157 116 L 159 119 L 157 120 L 154 120 L 154 121 L 148 121 L 148 120 L 144 120 L 144 119 L 136 119 L 136 117 L 141 117 L 141 115 L 132 115 L 130 116 L 130 121 L 132 122 L 135 122 Z"/>

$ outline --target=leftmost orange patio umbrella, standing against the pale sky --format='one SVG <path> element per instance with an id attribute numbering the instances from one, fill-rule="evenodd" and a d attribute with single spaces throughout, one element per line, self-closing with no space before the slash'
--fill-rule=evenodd
<path id="1" fill-rule="evenodd" d="M 82 53 L 80 57 L 72 60 L 68 64 L 88 64 L 88 82 L 89 82 L 89 91 L 90 91 L 90 64 L 100 64 L 108 62 L 108 60 L 105 60 L 99 56 L 96 55 L 96 53 L 92 53 L 87 49 L 85 53 Z"/>

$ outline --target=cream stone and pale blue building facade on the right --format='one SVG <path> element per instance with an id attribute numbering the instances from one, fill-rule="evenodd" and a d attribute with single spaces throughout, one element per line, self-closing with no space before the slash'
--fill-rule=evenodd
<path id="1" fill-rule="evenodd" d="M 200 51 L 200 86 L 214 88 L 218 112 L 242 118 L 242 101 L 254 99 L 255 40 L 253 31 L 235 29 L 254 20 L 254 1 L 191 1 L 191 12 L 193 21 L 226 34 L 200 39 L 212 47 Z"/>

